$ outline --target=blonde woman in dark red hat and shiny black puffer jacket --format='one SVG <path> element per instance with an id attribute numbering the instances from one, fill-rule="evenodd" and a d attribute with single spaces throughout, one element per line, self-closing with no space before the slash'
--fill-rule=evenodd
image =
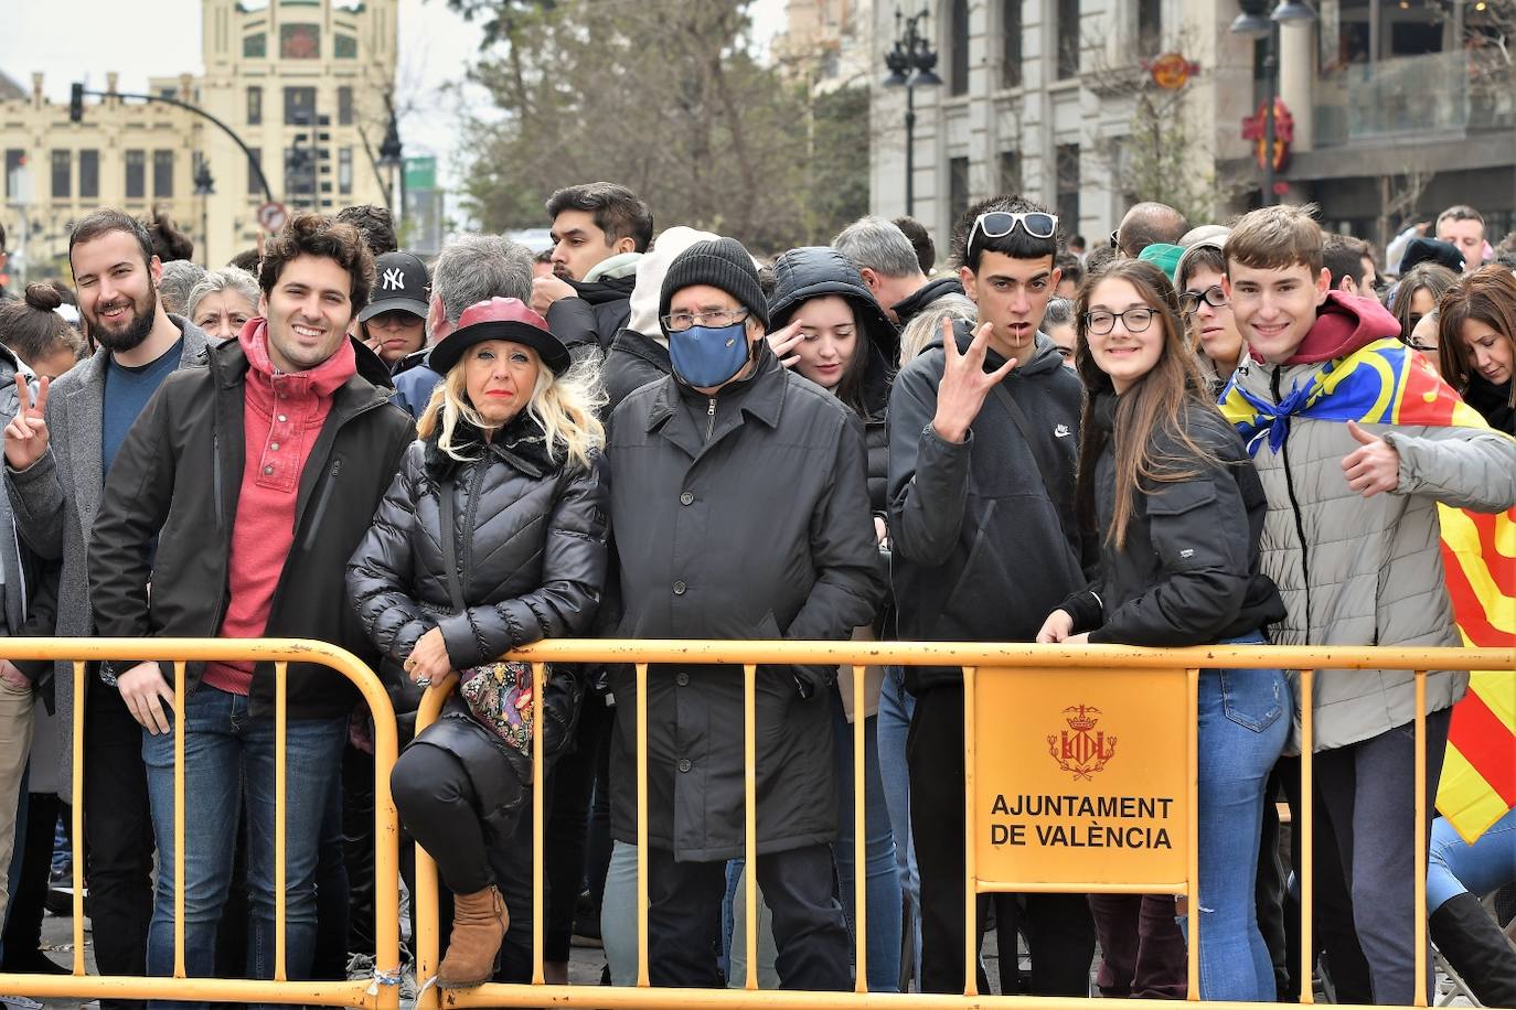
<path id="1" fill-rule="evenodd" d="M 531 798 L 531 747 L 547 762 L 572 737 L 578 668 L 555 668 L 532 725 L 531 669 L 494 662 L 590 627 L 606 569 L 606 492 L 591 374 L 570 369 L 547 323 L 517 298 L 464 310 L 432 348 L 443 374 L 400 474 L 347 566 L 347 589 L 385 656 L 426 687 L 459 684 L 391 774 L 400 822 L 455 895 L 438 983 L 497 971 L 529 980 L 531 853 L 512 846 Z M 502 889 L 522 906 L 506 912 Z M 506 928 L 514 928 L 500 949 Z M 525 934 L 523 942 L 514 937 Z"/>

